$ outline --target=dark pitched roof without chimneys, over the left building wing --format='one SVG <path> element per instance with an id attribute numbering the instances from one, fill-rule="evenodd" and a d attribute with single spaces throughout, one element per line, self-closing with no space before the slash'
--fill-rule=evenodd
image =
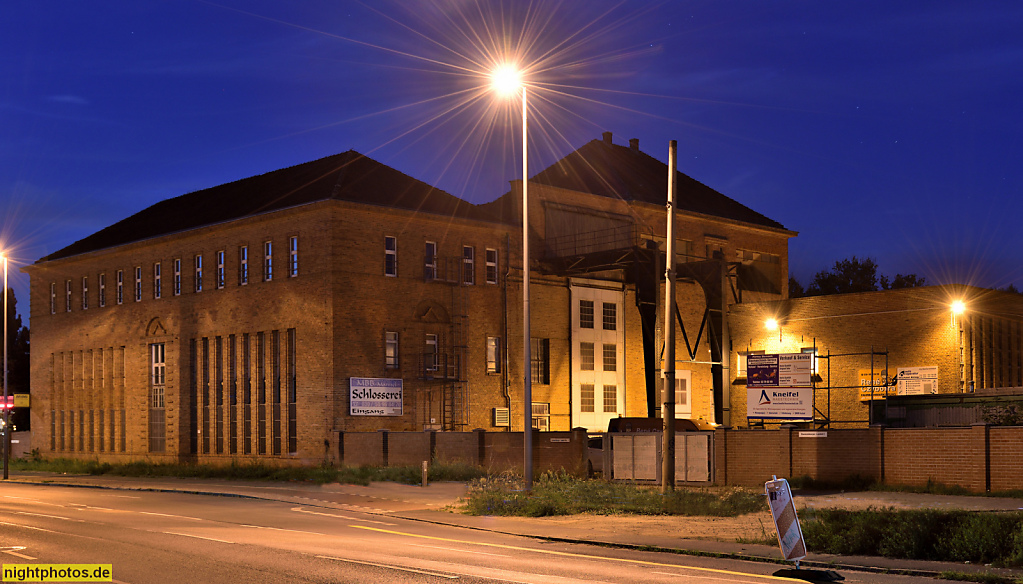
<path id="1" fill-rule="evenodd" d="M 493 220 L 460 198 L 349 150 L 162 200 L 37 263 L 325 199 Z"/>

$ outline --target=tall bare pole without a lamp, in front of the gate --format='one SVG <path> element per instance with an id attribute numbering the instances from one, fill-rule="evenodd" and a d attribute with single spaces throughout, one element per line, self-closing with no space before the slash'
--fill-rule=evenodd
<path id="1" fill-rule="evenodd" d="M 675 165 L 678 142 L 668 141 L 668 228 L 664 271 L 664 386 L 661 389 L 661 492 L 675 488 Z"/>

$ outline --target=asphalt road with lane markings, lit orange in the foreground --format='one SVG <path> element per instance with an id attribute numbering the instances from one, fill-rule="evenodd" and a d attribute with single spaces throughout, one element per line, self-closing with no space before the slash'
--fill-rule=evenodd
<path id="1" fill-rule="evenodd" d="M 0 561 L 114 581 L 760 584 L 779 566 L 549 542 L 314 505 L 0 484 Z M 846 582 L 928 582 L 845 573 Z"/>

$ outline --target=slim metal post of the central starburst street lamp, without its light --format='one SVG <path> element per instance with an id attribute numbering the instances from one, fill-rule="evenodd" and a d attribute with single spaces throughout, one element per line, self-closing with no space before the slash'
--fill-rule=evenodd
<path id="1" fill-rule="evenodd" d="M 529 339 L 529 132 L 526 86 L 522 86 L 522 410 L 523 476 L 526 490 L 533 490 L 533 367 Z"/>

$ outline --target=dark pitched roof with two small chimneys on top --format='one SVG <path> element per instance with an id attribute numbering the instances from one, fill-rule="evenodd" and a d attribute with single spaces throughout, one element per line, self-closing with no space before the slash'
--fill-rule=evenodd
<path id="1" fill-rule="evenodd" d="M 668 200 L 668 165 L 640 151 L 638 144 L 635 148 L 613 144 L 610 133 L 605 134 L 603 140 L 590 140 L 583 144 L 534 175 L 530 182 L 623 200 L 654 205 L 665 205 Z M 785 229 L 777 221 L 680 172 L 676 184 L 678 209 Z M 510 208 L 505 209 L 507 204 L 502 204 L 500 199 L 494 204 L 492 212 L 497 209 L 503 213 L 510 211 Z"/>

